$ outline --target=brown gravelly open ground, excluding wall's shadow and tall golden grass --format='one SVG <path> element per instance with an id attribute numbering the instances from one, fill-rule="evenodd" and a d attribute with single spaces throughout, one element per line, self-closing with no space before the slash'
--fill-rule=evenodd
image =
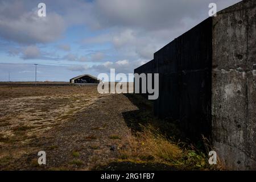
<path id="1" fill-rule="evenodd" d="M 117 158 L 131 136 L 123 94 L 96 85 L 0 85 L 0 169 L 91 169 Z M 38 166 L 39 151 L 47 165 Z"/>

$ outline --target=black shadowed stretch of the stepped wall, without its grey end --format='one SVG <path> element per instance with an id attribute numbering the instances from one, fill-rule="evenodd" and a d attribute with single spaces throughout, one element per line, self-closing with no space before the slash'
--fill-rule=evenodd
<path id="1" fill-rule="evenodd" d="M 180 121 L 191 138 L 210 135 L 212 18 L 204 20 L 154 54 L 134 73 L 159 73 L 155 115 Z"/>

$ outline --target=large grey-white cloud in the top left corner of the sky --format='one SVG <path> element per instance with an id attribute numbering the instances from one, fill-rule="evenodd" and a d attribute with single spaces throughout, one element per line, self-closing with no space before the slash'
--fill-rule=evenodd
<path id="1" fill-rule="evenodd" d="M 17 1 L 0 2 L 0 36 L 22 44 L 48 43 L 60 38 L 65 30 L 62 16 L 48 13 L 39 17 L 36 10 L 23 7 Z"/>

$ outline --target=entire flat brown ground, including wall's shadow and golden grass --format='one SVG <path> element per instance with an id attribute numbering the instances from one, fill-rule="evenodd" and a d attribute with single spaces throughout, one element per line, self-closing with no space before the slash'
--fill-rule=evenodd
<path id="1" fill-rule="evenodd" d="M 0 96 L 0 170 L 213 169 L 208 153 L 180 142 L 176 122 L 155 118 L 152 102 L 138 94 L 1 83 Z"/>

